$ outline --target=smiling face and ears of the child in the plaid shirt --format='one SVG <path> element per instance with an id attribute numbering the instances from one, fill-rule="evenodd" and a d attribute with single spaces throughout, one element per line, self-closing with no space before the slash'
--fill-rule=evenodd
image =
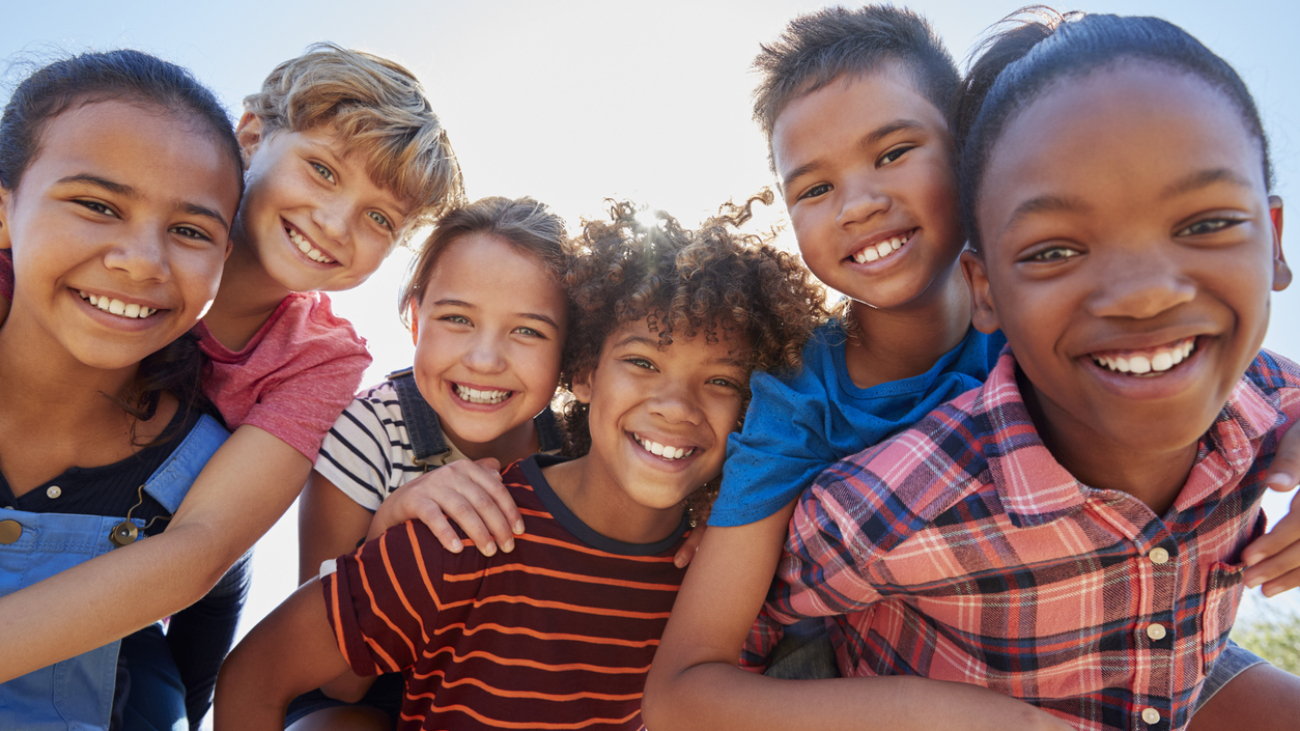
<path id="1" fill-rule="evenodd" d="M 1062 83 L 1006 126 L 976 209 L 983 260 L 963 265 L 1049 444 L 1176 450 L 1210 427 L 1287 281 L 1261 166 L 1227 98 L 1149 64 Z"/>

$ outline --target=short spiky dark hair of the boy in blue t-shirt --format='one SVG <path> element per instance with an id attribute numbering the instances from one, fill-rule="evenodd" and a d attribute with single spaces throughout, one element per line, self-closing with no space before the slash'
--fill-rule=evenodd
<path id="1" fill-rule="evenodd" d="M 763 127 L 768 150 L 776 117 L 792 100 L 889 61 L 902 64 L 916 90 L 949 117 L 961 74 L 926 18 L 893 5 L 866 5 L 826 8 L 790 21 L 754 59 L 762 74 L 754 90 L 754 120 Z"/>

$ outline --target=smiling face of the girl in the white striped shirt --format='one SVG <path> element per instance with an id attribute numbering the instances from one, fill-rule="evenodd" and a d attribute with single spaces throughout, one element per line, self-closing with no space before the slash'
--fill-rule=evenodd
<path id="1" fill-rule="evenodd" d="M 462 449 L 529 423 L 559 382 L 564 291 L 537 258 L 465 234 L 438 258 L 411 323 L 415 379 Z"/>

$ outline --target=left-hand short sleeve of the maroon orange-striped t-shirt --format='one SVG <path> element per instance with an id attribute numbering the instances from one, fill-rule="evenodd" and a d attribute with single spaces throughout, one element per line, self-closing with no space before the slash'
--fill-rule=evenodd
<path id="1" fill-rule="evenodd" d="M 321 578 L 334 639 L 358 675 L 398 672 L 420 659 L 424 637 L 433 635 L 442 576 L 443 553 L 426 545 L 430 540 L 411 522 L 394 525 Z"/>

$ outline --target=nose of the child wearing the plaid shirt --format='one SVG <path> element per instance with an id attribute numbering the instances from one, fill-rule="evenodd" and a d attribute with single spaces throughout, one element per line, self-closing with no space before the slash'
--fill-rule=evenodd
<path id="1" fill-rule="evenodd" d="M 1110 256 L 1098 272 L 1087 307 L 1098 317 L 1148 319 L 1191 302 L 1196 285 L 1178 265 L 1176 252 L 1135 246 Z"/>

